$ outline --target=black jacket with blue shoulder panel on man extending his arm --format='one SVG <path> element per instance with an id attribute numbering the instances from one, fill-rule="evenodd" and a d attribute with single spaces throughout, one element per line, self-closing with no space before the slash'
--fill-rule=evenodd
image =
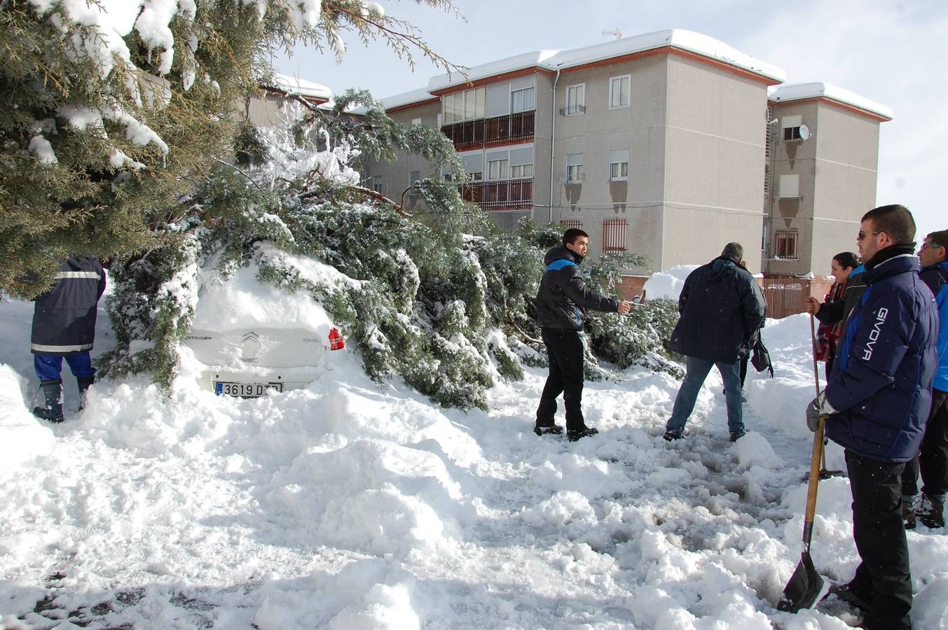
<path id="1" fill-rule="evenodd" d="M 566 247 L 554 247 L 546 253 L 546 269 L 539 281 L 537 316 L 541 328 L 583 330 L 586 309 L 617 313 L 619 302 L 586 288 L 579 274 L 583 258 Z"/>

